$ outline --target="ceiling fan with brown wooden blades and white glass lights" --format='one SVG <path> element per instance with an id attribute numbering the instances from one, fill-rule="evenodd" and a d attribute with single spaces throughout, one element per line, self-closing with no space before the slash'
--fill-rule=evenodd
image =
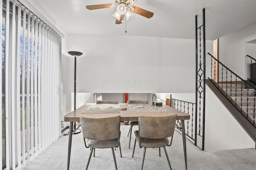
<path id="1" fill-rule="evenodd" d="M 97 10 L 102 8 L 113 8 L 117 6 L 116 12 L 112 15 L 114 18 L 116 18 L 116 24 L 124 22 L 124 15 L 126 17 L 126 20 L 130 20 L 134 16 L 132 12 L 144 16 L 146 18 L 151 18 L 154 15 L 154 13 L 139 8 L 137 6 L 129 6 L 131 3 L 135 1 L 137 0 L 115 0 L 115 4 L 88 5 L 86 6 L 86 8 L 88 10 Z"/>

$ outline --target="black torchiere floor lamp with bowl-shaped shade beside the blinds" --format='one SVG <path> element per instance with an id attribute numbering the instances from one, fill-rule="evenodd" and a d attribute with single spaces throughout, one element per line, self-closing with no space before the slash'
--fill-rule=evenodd
<path id="1" fill-rule="evenodd" d="M 72 55 L 75 58 L 75 62 L 74 62 L 74 110 L 76 109 L 76 57 L 79 57 L 81 55 L 83 55 L 83 53 L 78 52 L 78 51 L 68 51 L 68 54 Z M 73 127 L 73 134 L 78 134 L 81 132 L 77 131 L 78 128 L 81 126 L 81 124 L 76 128 L 76 122 L 74 123 L 74 127 Z"/>

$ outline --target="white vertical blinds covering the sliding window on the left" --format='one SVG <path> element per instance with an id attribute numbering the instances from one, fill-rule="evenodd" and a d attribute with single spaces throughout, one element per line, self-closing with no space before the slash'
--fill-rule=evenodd
<path id="1" fill-rule="evenodd" d="M 60 136 L 61 37 L 18 0 L 0 0 L 0 154 L 21 168 Z"/>

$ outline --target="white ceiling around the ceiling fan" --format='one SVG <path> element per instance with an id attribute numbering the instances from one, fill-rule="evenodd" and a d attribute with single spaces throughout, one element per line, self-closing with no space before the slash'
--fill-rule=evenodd
<path id="1" fill-rule="evenodd" d="M 132 19 L 119 25 L 112 17 L 116 8 L 85 8 L 87 5 L 114 4 L 114 0 L 27 1 L 70 34 L 195 39 L 195 16 L 198 16 L 198 26 L 202 25 L 203 8 L 207 8 L 207 40 L 256 21 L 256 0 L 138 0 L 132 5 L 153 12 L 154 16 L 148 19 L 134 14 Z"/>

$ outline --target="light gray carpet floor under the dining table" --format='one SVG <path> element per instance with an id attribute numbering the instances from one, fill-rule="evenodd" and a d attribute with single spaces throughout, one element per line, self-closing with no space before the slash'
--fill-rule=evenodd
<path id="1" fill-rule="evenodd" d="M 121 149 L 115 150 L 116 161 L 119 170 L 139 170 L 142 163 L 143 148 L 136 144 L 134 158 L 132 150 L 134 145 L 134 133 L 132 133 L 131 148 L 128 149 L 130 126 L 122 125 Z M 133 130 L 138 129 L 134 126 Z M 172 146 L 166 147 L 173 170 L 185 170 L 182 135 L 175 130 Z M 88 161 L 90 149 L 84 147 L 82 133 L 73 135 L 70 158 L 70 170 L 84 170 Z M 66 170 L 68 154 L 68 135 L 61 136 L 45 149 L 39 156 L 26 161 L 23 170 Z M 161 157 L 158 149 L 146 150 L 144 170 L 168 170 L 169 166 L 161 149 Z M 256 169 L 256 149 L 234 149 L 218 151 L 202 151 L 194 143 L 187 140 L 188 170 L 252 170 Z M 111 149 L 96 149 L 95 157 L 91 158 L 89 170 L 114 170 L 114 160 Z"/>

